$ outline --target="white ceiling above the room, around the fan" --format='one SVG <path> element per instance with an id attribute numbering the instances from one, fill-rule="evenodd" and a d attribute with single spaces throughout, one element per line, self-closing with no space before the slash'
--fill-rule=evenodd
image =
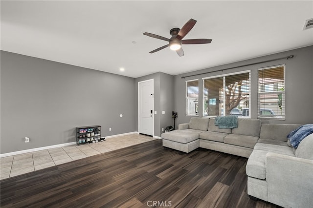
<path id="1" fill-rule="evenodd" d="M 1 50 L 129 77 L 185 72 L 313 45 L 313 1 L 4 1 Z M 197 20 L 179 57 L 170 29 Z M 125 68 L 124 72 L 119 68 Z"/>

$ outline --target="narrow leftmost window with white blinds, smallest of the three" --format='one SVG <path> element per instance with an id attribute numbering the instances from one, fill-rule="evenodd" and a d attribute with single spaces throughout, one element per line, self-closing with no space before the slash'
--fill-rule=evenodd
<path id="1" fill-rule="evenodd" d="M 186 81 L 186 115 L 198 115 L 199 80 Z"/>

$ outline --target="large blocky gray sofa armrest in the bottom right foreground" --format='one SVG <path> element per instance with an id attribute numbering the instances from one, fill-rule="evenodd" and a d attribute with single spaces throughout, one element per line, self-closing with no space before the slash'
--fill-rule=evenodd
<path id="1" fill-rule="evenodd" d="M 267 153 L 268 202 L 281 207 L 312 207 L 313 160 Z"/>

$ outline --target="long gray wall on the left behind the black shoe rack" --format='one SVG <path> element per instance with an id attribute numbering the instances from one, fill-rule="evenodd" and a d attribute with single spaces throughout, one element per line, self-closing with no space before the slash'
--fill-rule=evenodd
<path id="1" fill-rule="evenodd" d="M 77 126 L 136 131 L 134 78 L 5 51 L 0 75 L 1 154 L 75 142 Z"/>

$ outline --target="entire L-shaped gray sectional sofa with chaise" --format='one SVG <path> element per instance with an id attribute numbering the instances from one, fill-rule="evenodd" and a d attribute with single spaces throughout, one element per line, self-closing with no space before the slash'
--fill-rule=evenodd
<path id="1" fill-rule="evenodd" d="M 238 127 L 222 129 L 215 119 L 191 118 L 162 134 L 164 147 L 189 153 L 202 147 L 248 158 L 247 193 L 252 199 L 285 208 L 313 207 L 313 134 L 295 149 L 287 135 L 294 124 L 262 124 L 238 118 Z"/>

